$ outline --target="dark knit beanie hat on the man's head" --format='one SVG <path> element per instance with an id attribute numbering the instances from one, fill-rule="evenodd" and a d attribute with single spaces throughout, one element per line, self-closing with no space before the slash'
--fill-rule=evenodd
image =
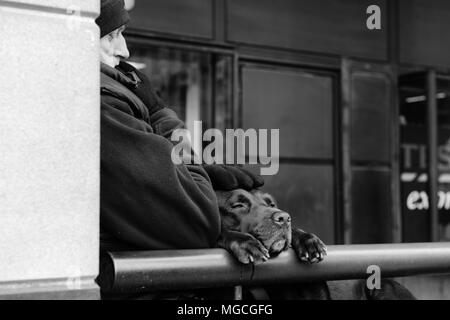
<path id="1" fill-rule="evenodd" d="M 100 16 L 95 22 L 100 27 L 100 38 L 130 21 L 123 0 L 101 0 Z"/>

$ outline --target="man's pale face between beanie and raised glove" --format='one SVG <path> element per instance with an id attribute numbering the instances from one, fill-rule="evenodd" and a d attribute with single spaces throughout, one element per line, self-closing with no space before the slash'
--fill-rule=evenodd
<path id="1" fill-rule="evenodd" d="M 100 39 L 100 61 L 114 68 L 121 59 L 130 56 L 127 43 L 122 35 L 125 26 L 122 26 Z"/>

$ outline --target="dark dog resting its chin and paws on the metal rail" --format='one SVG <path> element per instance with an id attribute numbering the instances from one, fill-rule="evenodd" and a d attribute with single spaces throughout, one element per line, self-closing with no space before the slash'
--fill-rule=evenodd
<path id="1" fill-rule="evenodd" d="M 216 191 L 222 218 L 218 245 L 244 264 L 259 264 L 292 248 L 301 261 L 317 263 L 325 244 L 314 234 L 291 226 L 290 215 L 273 197 L 259 190 Z M 268 286 L 272 299 L 415 299 L 402 285 L 383 279 L 381 289 L 369 290 L 364 280 L 305 284 L 296 288 Z M 260 291 L 261 292 L 261 291 Z"/>

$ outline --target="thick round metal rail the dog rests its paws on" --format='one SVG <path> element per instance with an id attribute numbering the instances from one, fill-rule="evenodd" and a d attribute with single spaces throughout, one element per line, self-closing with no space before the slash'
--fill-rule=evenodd
<path id="1" fill-rule="evenodd" d="M 98 282 L 105 292 L 183 290 L 238 285 L 363 279 L 376 265 L 382 277 L 450 273 L 450 243 L 329 246 L 318 264 L 301 263 L 292 250 L 255 267 L 223 249 L 109 253 Z"/>

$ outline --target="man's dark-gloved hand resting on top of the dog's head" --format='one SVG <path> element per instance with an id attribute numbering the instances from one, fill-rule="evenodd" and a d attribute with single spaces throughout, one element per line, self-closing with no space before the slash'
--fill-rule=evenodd
<path id="1" fill-rule="evenodd" d="M 264 180 L 261 176 L 238 166 L 205 164 L 203 168 L 208 173 L 215 190 L 252 190 L 264 185 Z"/>

